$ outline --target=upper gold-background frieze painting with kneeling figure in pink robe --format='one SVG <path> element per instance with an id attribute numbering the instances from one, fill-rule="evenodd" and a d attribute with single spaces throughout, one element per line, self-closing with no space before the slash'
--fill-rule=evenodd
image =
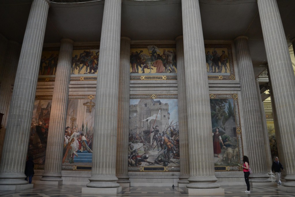
<path id="1" fill-rule="evenodd" d="M 130 73 L 157 74 L 176 73 L 176 48 L 131 48 Z"/>

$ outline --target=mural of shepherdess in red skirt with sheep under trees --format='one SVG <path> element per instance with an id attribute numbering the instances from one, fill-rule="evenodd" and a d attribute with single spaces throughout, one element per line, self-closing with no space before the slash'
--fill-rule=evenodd
<path id="1" fill-rule="evenodd" d="M 237 95 L 211 94 L 210 107 L 215 170 L 239 170 L 243 149 Z"/>

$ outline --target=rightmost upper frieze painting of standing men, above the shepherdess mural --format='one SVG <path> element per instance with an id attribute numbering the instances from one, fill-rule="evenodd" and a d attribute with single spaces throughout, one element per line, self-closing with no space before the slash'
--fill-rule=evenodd
<path id="1" fill-rule="evenodd" d="M 230 44 L 205 44 L 208 79 L 235 79 Z"/>

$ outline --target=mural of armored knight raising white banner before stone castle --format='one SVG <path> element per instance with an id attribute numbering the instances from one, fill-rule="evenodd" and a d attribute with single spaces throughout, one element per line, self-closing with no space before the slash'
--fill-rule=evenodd
<path id="1" fill-rule="evenodd" d="M 177 99 L 130 99 L 128 170 L 179 166 Z"/>

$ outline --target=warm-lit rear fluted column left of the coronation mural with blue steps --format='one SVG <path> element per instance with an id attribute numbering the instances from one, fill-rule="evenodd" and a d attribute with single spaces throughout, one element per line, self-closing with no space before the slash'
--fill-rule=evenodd
<path id="1" fill-rule="evenodd" d="M 48 128 L 45 168 L 40 184 L 62 184 L 61 165 L 65 136 L 66 115 L 73 43 L 71 39 L 62 39 L 55 74 L 50 125 Z M 38 182 L 39 183 L 39 182 Z"/>

